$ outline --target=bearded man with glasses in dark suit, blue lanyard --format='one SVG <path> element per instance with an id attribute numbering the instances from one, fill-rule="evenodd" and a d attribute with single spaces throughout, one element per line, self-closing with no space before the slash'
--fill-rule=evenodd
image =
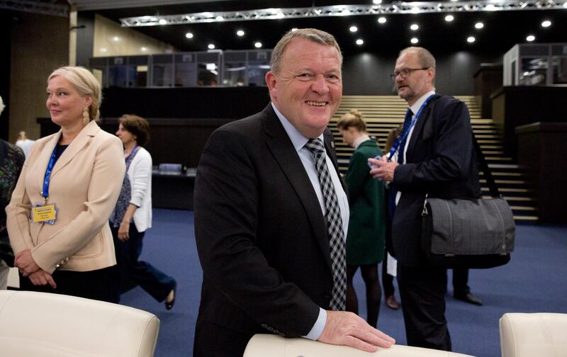
<path id="1" fill-rule="evenodd" d="M 408 102 L 400 140 L 381 160 L 369 159 L 375 179 L 391 182 L 393 253 L 408 345 L 451 351 L 445 319 L 447 269 L 429 266 L 420 247 L 425 195 L 478 198 L 471 118 L 466 105 L 435 94 L 435 59 L 422 47 L 400 52 L 393 74 Z M 398 162 L 391 161 L 398 153 Z"/>

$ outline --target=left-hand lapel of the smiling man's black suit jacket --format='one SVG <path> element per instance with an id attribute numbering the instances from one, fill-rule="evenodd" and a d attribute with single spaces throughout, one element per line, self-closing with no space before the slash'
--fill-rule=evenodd
<path id="1" fill-rule="evenodd" d="M 303 163 L 295 147 L 291 144 L 286 130 L 283 129 L 279 118 L 271 108 L 271 104 L 268 104 L 262 113 L 264 115 L 261 120 L 266 131 L 266 144 L 301 200 L 308 220 L 311 223 L 315 240 L 318 242 L 323 256 L 325 256 L 325 261 L 327 261 L 327 265 L 331 269 L 327 226 L 325 225 L 325 217 L 322 215 L 319 200 L 315 190 L 313 190 L 313 185 L 303 169 Z"/>

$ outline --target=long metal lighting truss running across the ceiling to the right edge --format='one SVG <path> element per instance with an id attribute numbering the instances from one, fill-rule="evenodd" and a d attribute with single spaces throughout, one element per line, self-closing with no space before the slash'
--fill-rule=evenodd
<path id="1" fill-rule="evenodd" d="M 335 5 L 310 8 L 262 8 L 245 11 L 183 13 L 165 16 L 120 18 L 123 27 L 213 23 L 222 21 L 273 20 L 278 18 L 318 18 L 395 13 L 458 13 L 468 11 L 552 10 L 567 8 L 567 0 L 488 0 L 488 1 L 394 1 L 381 5 Z"/>

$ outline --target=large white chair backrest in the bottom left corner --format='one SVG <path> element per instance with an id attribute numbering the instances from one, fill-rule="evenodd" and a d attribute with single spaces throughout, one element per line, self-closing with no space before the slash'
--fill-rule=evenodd
<path id="1" fill-rule="evenodd" d="M 152 357 L 150 312 L 68 295 L 0 290 L 2 357 Z"/>

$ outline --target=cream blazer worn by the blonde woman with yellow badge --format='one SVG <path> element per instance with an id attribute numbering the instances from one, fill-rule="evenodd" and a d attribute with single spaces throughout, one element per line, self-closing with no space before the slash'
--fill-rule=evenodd
<path id="1" fill-rule="evenodd" d="M 54 225 L 30 220 L 33 205 L 43 204 L 45 169 L 61 130 L 33 145 L 23 165 L 6 219 L 10 244 L 18 253 L 30 249 L 48 273 L 56 268 L 93 271 L 116 264 L 110 216 L 125 172 L 122 142 L 91 121 L 53 166 L 49 199 L 55 203 Z"/>

